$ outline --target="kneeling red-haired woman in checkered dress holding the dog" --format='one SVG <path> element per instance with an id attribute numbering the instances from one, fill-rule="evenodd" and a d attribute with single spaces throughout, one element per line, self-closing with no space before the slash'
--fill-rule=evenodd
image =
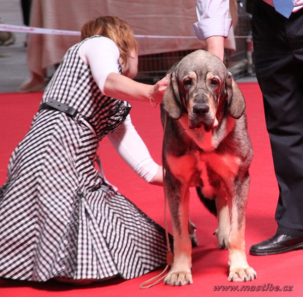
<path id="1" fill-rule="evenodd" d="M 123 20 L 96 18 L 81 33 L 47 85 L 0 189 L 3 278 L 130 279 L 165 263 L 164 230 L 109 184 L 94 161 L 107 135 L 141 177 L 162 184 L 162 167 L 136 133 L 127 101 L 162 102 L 167 82 L 150 88 L 131 79 L 138 47 Z"/>

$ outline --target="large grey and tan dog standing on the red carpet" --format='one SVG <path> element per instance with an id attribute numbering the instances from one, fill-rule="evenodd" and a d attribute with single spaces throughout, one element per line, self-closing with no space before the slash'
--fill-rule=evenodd
<path id="1" fill-rule="evenodd" d="M 165 283 L 192 283 L 191 245 L 197 242 L 189 220 L 191 186 L 202 200 L 215 200 L 215 234 L 229 251 L 228 280 L 252 280 L 256 272 L 246 260 L 244 230 L 253 153 L 243 95 L 220 59 L 203 50 L 184 57 L 168 78 L 161 117 L 174 261 Z"/>

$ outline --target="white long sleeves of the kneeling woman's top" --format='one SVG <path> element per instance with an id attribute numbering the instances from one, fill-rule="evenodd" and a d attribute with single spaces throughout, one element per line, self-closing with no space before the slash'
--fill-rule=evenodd
<path id="1" fill-rule="evenodd" d="M 104 84 L 107 76 L 112 72 L 119 73 L 120 54 L 117 45 L 107 37 L 90 38 L 80 46 L 79 55 L 89 65 L 94 80 L 105 94 Z M 159 165 L 151 158 L 145 143 L 131 122 L 130 115 L 116 132 L 108 134 L 107 137 L 123 160 L 140 177 L 147 182 L 153 179 Z"/>

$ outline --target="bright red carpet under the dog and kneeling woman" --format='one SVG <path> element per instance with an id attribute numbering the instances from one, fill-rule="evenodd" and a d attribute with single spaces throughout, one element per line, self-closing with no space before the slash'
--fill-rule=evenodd
<path id="1" fill-rule="evenodd" d="M 255 151 L 250 168 L 251 183 L 246 213 L 246 251 L 248 253 L 251 244 L 267 239 L 276 231 L 274 213 L 278 189 L 259 86 L 257 83 L 242 83 L 240 87 L 246 99 L 248 130 Z M 41 93 L 0 94 L 0 184 L 6 180 L 11 152 L 28 131 L 32 117 L 38 109 L 40 98 Z M 163 135 L 160 110 L 151 108 L 149 104 L 132 103 L 132 105 L 133 123 L 147 144 L 151 155 L 160 162 Z M 138 178 L 120 159 L 107 139 L 100 143 L 99 154 L 107 179 L 118 186 L 120 192 L 129 197 L 151 218 L 164 226 L 163 189 L 151 186 Z M 31 283 L 0 280 L 0 296 L 243 296 L 243 289 L 247 296 L 281 294 L 303 296 L 301 281 L 303 251 L 275 256 L 248 256 L 248 263 L 257 271 L 258 278 L 245 283 L 228 282 L 227 251 L 217 249 L 217 239 L 212 235 L 217 227 L 216 219 L 198 202 L 194 191 L 192 193 L 191 219 L 197 227 L 199 240 L 199 246 L 193 249 L 192 254 L 194 281 L 192 285 L 171 287 L 160 283 L 149 289 L 139 289 L 141 282 L 156 276 L 161 272 L 159 270 L 133 280 L 111 280 L 83 288 L 53 281 Z M 248 285 L 249 288 L 244 288 L 243 285 Z"/>

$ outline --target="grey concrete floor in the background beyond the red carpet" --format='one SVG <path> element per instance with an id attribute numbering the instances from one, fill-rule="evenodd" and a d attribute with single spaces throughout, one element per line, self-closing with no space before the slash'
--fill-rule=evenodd
<path id="1" fill-rule="evenodd" d="M 46 0 L 45 0 L 46 1 Z M 10 25 L 23 25 L 20 0 L 1 0 L 0 20 Z M 14 33 L 16 41 L 9 46 L 0 46 L 0 93 L 16 92 L 29 77 L 26 66 L 27 47 L 25 33 Z M 256 77 L 241 77 L 237 82 L 256 81 Z"/>

